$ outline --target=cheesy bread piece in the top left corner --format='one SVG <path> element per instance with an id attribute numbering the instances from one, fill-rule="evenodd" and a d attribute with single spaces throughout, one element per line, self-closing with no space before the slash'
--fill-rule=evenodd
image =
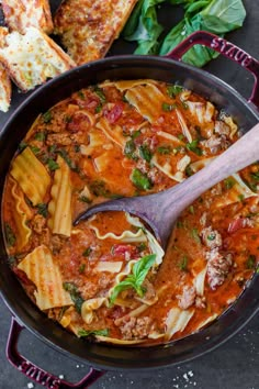
<path id="1" fill-rule="evenodd" d="M 5 24 L 11 31 L 24 33 L 34 26 L 46 34 L 53 32 L 48 0 L 1 0 Z"/>

